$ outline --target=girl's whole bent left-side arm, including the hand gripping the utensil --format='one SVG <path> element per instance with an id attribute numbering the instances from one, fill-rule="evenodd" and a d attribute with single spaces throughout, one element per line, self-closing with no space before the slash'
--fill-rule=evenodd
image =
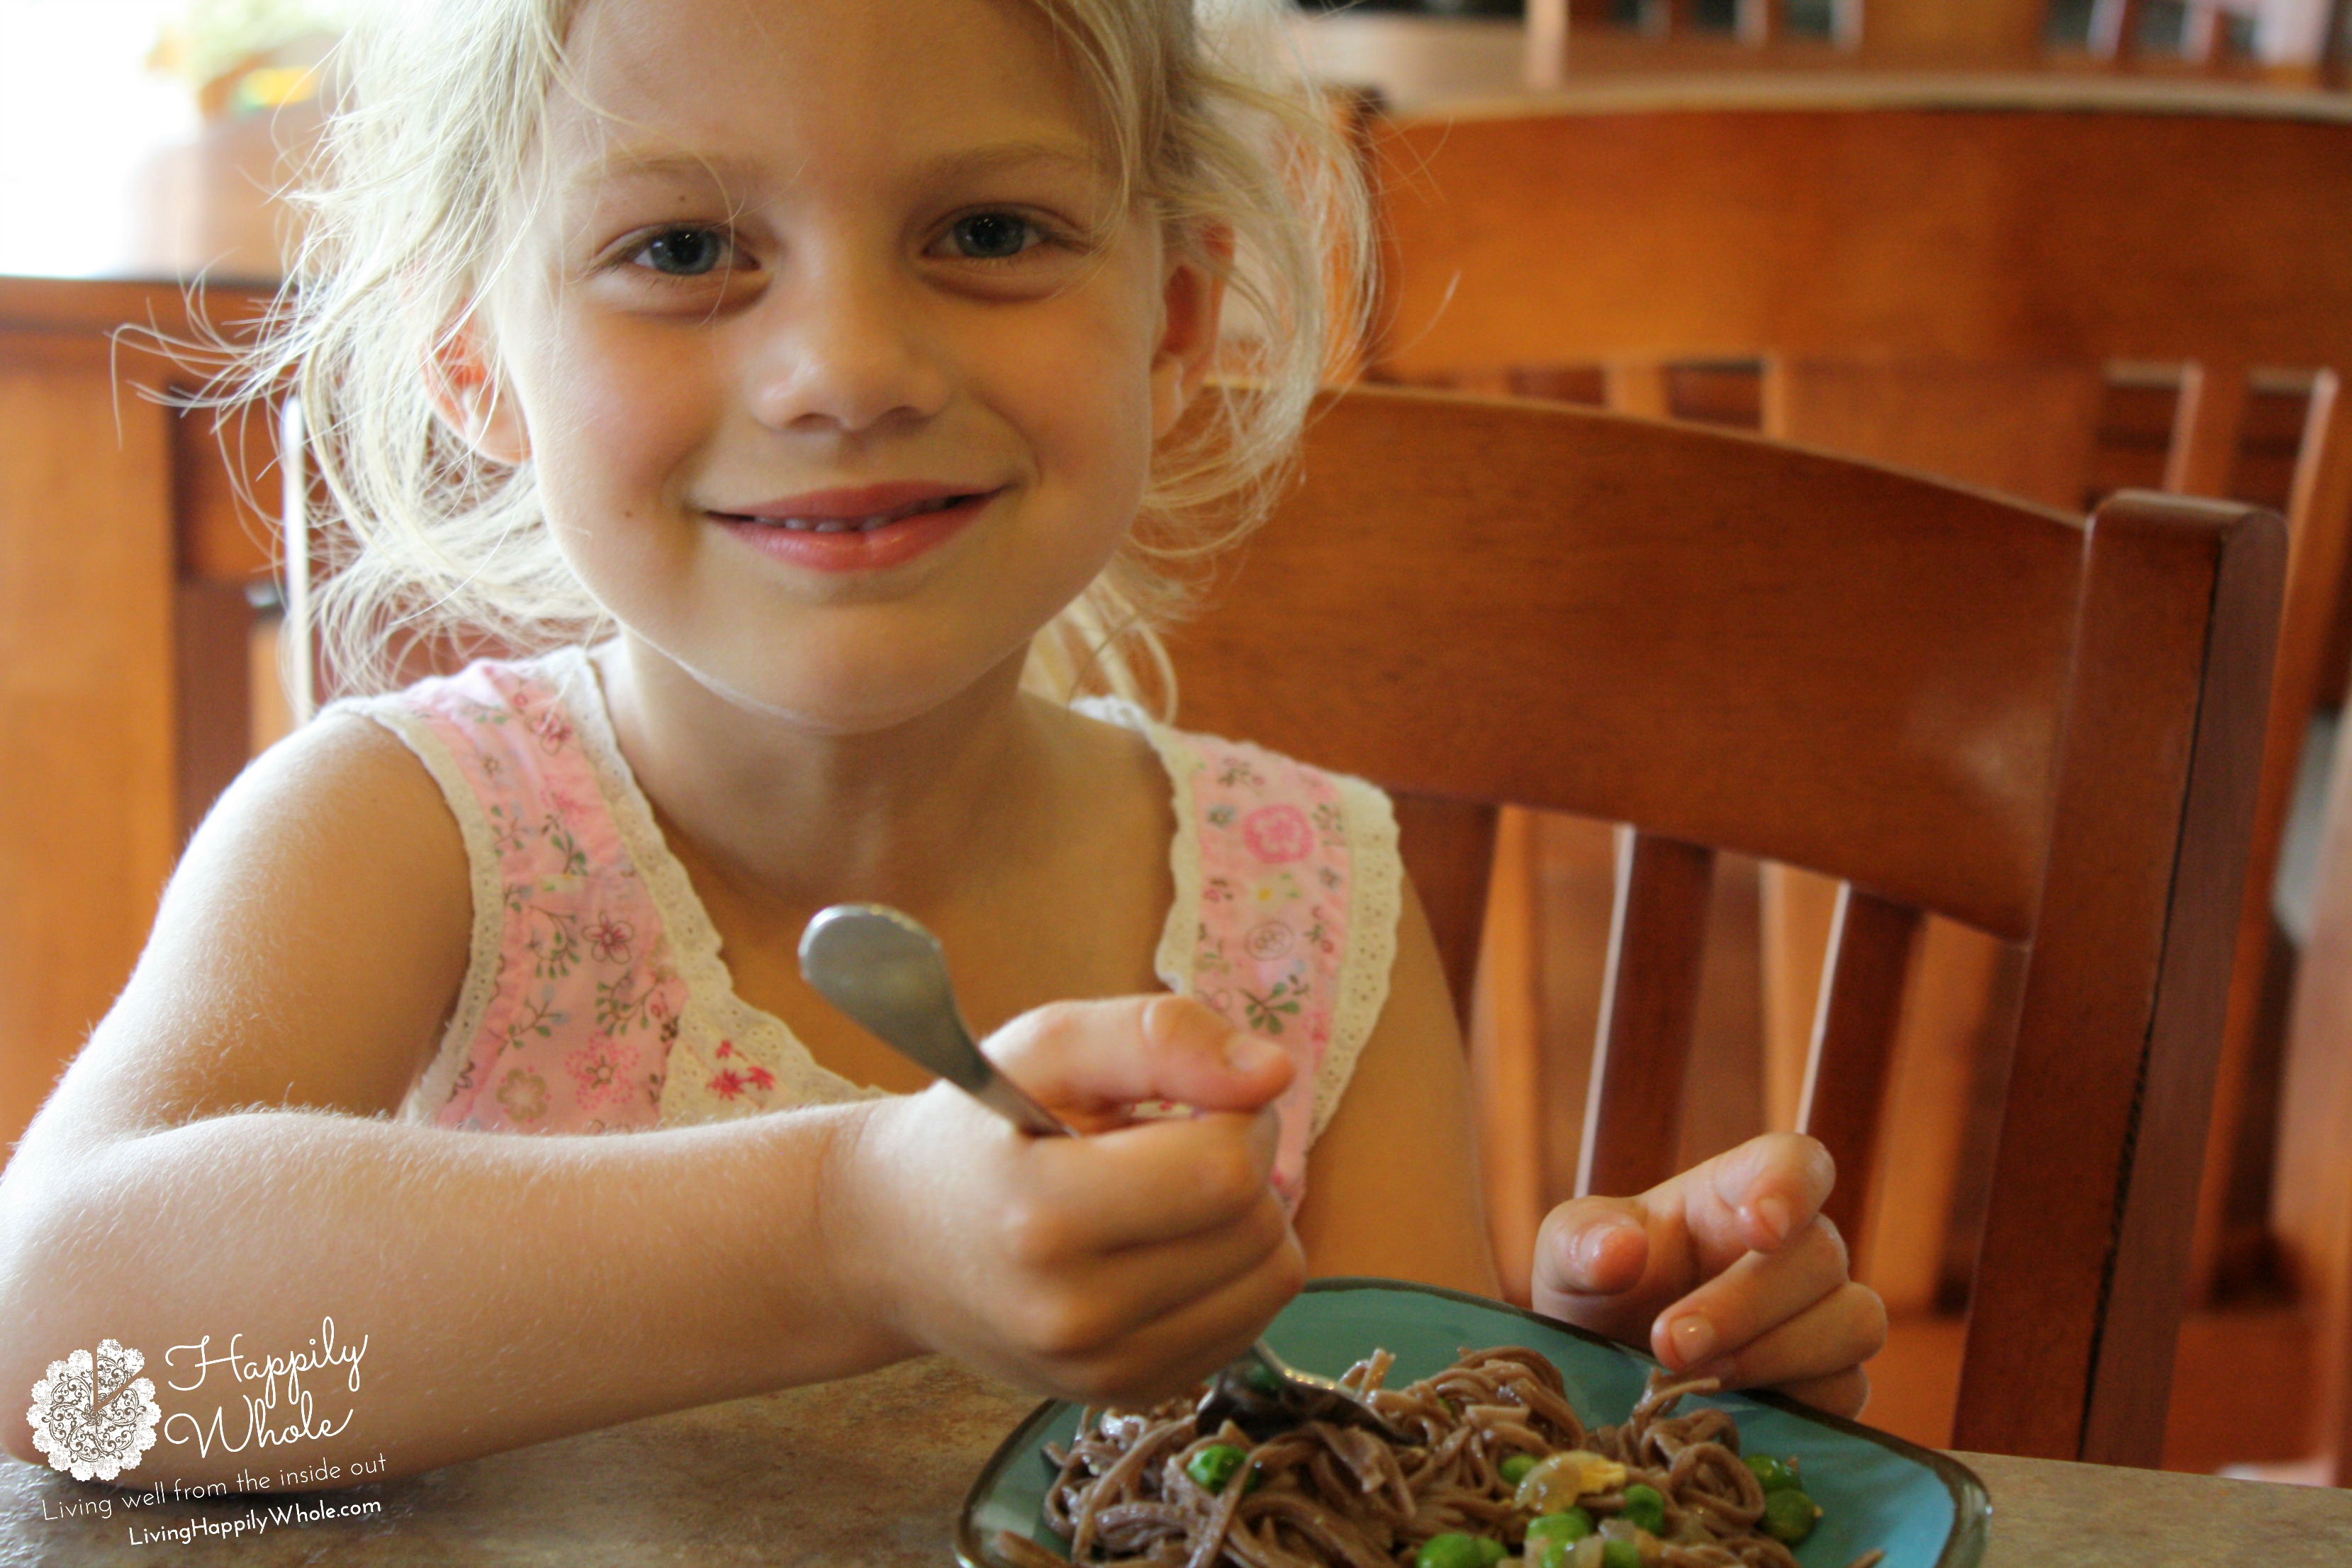
<path id="1" fill-rule="evenodd" d="M 0 1387 L 113 1338 L 167 1439 L 125 1483 L 405 1474 L 920 1349 L 1152 1396 L 1296 1288 L 1249 1114 L 1289 1067 L 1230 1065 L 1207 1009 L 1044 1009 L 990 1041 L 1065 1105 L 1120 1079 L 1225 1107 L 1089 1140 L 1023 1140 L 948 1088 L 604 1138 L 388 1121 L 468 931 L 456 825 L 393 736 L 329 722 L 249 769 L 0 1175 Z M 299 1441 L 249 1436 L 303 1420 L 285 1378 L 261 1410 L 228 1363 L 195 1385 L 198 1354 L 308 1352 L 329 1316 L 346 1356 L 365 1342 L 358 1389 L 348 1363 L 303 1375 Z"/>

